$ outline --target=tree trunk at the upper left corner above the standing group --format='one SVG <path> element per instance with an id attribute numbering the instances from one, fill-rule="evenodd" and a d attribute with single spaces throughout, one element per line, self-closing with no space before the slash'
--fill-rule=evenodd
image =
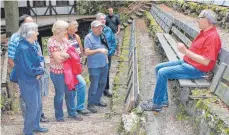
<path id="1" fill-rule="evenodd" d="M 4 1 L 4 9 L 6 19 L 6 36 L 10 37 L 19 28 L 18 1 Z"/>

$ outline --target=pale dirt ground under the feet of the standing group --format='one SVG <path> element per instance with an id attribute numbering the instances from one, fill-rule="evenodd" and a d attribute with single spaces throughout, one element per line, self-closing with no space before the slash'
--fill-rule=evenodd
<path id="1" fill-rule="evenodd" d="M 123 32 L 120 33 L 120 36 L 123 36 Z M 117 66 L 118 61 L 116 58 L 116 60 L 112 61 L 110 84 L 113 84 L 113 79 L 117 72 Z M 88 77 L 86 70 L 83 76 L 86 78 Z M 41 126 L 49 128 L 49 132 L 46 133 L 47 135 L 117 135 L 121 115 L 114 115 L 110 117 L 110 114 L 112 114 L 111 99 L 107 97 L 103 97 L 102 100 L 108 103 L 108 107 L 98 107 L 98 113 L 90 114 L 90 116 L 82 116 L 83 121 L 81 122 L 68 118 L 66 105 L 64 103 L 65 122 L 56 122 L 53 106 L 53 98 L 55 94 L 54 87 L 51 80 L 49 80 L 49 83 L 49 95 L 43 100 L 43 111 L 49 118 L 49 122 L 41 123 Z M 113 85 L 111 86 L 111 89 L 112 88 Z M 23 118 L 20 113 L 2 115 L 1 135 L 22 135 L 22 130 Z M 36 135 L 42 134 L 36 133 Z"/>

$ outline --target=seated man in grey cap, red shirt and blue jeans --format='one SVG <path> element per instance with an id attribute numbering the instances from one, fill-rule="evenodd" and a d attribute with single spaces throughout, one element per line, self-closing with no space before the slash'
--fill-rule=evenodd
<path id="1" fill-rule="evenodd" d="M 189 49 L 178 43 L 178 50 L 185 54 L 183 60 L 160 63 L 155 67 L 157 82 L 151 102 L 141 104 L 146 111 L 161 111 L 168 107 L 168 79 L 198 79 L 211 71 L 216 63 L 221 40 L 215 24 L 217 16 L 211 10 L 203 10 L 198 17 L 200 34 L 192 41 Z"/>

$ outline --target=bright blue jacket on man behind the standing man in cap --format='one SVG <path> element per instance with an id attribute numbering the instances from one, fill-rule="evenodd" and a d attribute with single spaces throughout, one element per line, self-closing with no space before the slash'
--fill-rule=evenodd
<path id="1" fill-rule="evenodd" d="M 90 30 L 89 32 L 92 32 L 92 30 Z M 106 25 L 103 28 L 103 34 L 105 35 L 108 46 L 109 46 L 108 56 L 113 56 L 116 50 L 115 35 L 112 32 L 111 28 Z"/>

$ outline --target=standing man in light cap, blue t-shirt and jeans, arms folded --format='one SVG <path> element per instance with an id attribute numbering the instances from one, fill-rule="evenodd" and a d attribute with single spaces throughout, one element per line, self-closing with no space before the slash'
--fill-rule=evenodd
<path id="1" fill-rule="evenodd" d="M 87 66 L 90 79 L 88 91 L 88 110 L 96 113 L 94 106 L 106 107 L 106 103 L 101 102 L 101 96 L 106 86 L 108 73 L 107 47 L 101 42 L 104 25 L 95 20 L 91 23 L 92 32 L 84 39 L 85 55 L 87 56 Z"/>

